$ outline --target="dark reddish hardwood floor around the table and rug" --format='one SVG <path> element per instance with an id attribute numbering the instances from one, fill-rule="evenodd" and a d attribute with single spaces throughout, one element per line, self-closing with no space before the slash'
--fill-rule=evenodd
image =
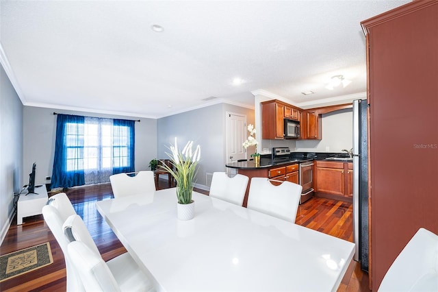
<path id="1" fill-rule="evenodd" d="M 168 187 L 167 181 L 160 179 L 158 188 L 166 187 Z M 208 194 L 203 190 L 196 189 L 196 191 Z M 126 252 L 125 247 L 118 241 L 116 235 L 94 207 L 96 201 L 112 198 L 110 184 L 72 188 L 66 193 L 76 212 L 83 218 L 90 230 L 104 260 L 110 260 Z M 57 244 L 44 223 L 42 215 L 27 217 L 23 222 L 23 225 L 17 226 L 16 218 L 14 219 L 1 244 L 0 255 L 49 241 L 53 264 L 0 282 L 0 291 L 65 291 L 64 255 L 60 245 Z M 296 223 L 352 241 L 352 206 L 350 203 L 314 197 L 298 207 Z M 370 291 L 368 274 L 361 271 L 360 266 L 352 261 L 338 291 Z"/>

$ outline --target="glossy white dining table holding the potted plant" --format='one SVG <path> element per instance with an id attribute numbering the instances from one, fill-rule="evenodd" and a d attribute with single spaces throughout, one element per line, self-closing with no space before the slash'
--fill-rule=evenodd
<path id="1" fill-rule="evenodd" d="M 267 194 L 269 195 L 269 194 Z M 157 291 L 336 291 L 355 245 L 193 193 L 177 219 L 175 188 L 96 202 Z"/>

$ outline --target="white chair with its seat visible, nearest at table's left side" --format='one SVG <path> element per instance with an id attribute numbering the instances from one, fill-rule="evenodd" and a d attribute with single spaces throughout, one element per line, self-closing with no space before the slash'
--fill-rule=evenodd
<path id="1" fill-rule="evenodd" d="M 105 262 L 79 215 L 64 222 L 68 256 L 86 291 L 153 291 L 153 282 L 128 252 Z"/>

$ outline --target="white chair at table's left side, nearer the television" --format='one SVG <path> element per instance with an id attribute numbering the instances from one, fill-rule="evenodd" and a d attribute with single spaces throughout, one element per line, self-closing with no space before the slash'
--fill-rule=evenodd
<path id="1" fill-rule="evenodd" d="M 51 230 L 57 243 L 60 245 L 62 253 L 64 254 L 64 261 L 66 264 L 66 291 L 84 291 L 79 275 L 77 275 L 73 264 L 68 258 L 67 245 L 69 241 L 64 236 L 62 225 L 64 221 L 71 215 L 75 215 L 75 209 L 70 203 L 65 193 L 58 193 L 49 198 L 46 206 L 42 207 L 42 216 L 47 226 Z"/>

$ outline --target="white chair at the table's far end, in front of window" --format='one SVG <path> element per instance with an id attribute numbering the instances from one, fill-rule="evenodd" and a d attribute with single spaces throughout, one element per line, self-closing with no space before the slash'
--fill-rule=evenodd
<path id="1" fill-rule="evenodd" d="M 138 171 L 134 176 L 113 174 L 110 175 L 110 182 L 114 197 L 153 193 L 156 190 L 153 171 Z"/>

